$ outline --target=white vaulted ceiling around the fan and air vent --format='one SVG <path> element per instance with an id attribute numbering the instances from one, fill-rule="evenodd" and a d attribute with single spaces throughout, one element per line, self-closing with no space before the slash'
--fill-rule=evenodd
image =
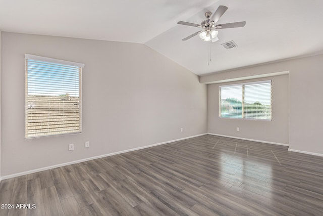
<path id="1" fill-rule="evenodd" d="M 198 36 L 204 12 L 229 9 L 218 24 L 246 21 L 219 30 L 219 41 Z M 146 44 L 197 75 L 323 52 L 321 0 L 0 0 L 0 30 Z M 226 50 L 234 40 L 237 48 Z M 212 61 L 208 61 L 211 51 Z M 209 62 L 209 63 L 208 63 Z"/>

